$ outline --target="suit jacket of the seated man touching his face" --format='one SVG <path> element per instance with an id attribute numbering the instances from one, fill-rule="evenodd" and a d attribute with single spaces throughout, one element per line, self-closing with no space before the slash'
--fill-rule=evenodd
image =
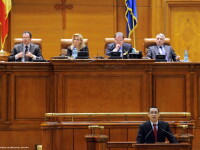
<path id="1" fill-rule="evenodd" d="M 108 44 L 106 48 L 106 55 L 110 56 L 110 53 L 115 49 L 116 44 L 110 43 Z M 128 51 L 128 54 L 132 52 L 132 45 L 128 43 L 124 43 L 122 46 L 123 53 L 126 53 Z"/>

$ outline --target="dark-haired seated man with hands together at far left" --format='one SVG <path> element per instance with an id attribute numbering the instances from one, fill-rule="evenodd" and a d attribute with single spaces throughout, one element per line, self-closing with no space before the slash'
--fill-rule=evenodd
<path id="1" fill-rule="evenodd" d="M 31 32 L 25 31 L 22 34 L 22 43 L 14 45 L 8 61 L 25 62 L 43 59 L 39 46 L 31 43 L 31 38 Z"/>

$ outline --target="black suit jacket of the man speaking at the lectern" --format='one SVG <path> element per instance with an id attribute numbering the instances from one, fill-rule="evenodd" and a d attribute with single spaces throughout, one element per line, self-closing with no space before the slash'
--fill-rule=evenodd
<path id="1" fill-rule="evenodd" d="M 177 143 L 169 124 L 164 121 L 158 121 L 157 142 L 165 142 L 165 138 L 167 138 L 170 143 Z M 150 121 L 140 125 L 137 135 L 137 143 L 155 143 L 155 136 Z"/>

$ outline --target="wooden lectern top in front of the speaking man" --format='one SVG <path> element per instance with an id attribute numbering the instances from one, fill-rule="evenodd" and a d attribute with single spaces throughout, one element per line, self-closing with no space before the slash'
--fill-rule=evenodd
<path id="1" fill-rule="evenodd" d="M 191 150 L 189 143 L 135 144 L 135 150 Z"/>

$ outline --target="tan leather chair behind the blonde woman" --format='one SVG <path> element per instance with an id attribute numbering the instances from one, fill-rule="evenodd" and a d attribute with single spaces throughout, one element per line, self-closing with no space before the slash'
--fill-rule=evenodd
<path id="1" fill-rule="evenodd" d="M 61 55 L 67 54 L 67 48 L 72 45 L 72 39 L 61 39 Z M 88 39 L 83 39 L 83 43 L 88 45 Z"/>

